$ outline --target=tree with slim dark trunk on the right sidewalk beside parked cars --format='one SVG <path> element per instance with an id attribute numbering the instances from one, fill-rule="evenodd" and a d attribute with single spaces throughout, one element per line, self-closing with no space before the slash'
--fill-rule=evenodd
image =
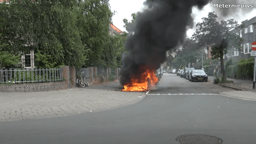
<path id="1" fill-rule="evenodd" d="M 217 18 L 217 14 L 209 12 L 207 18 L 202 18 L 203 22 L 197 23 L 197 29 L 192 35 L 192 38 L 200 46 L 211 47 L 212 59 L 220 58 L 221 72 L 223 74 L 222 81 L 225 81 L 226 73 L 224 70 L 223 55 L 230 48 L 240 49 L 243 40 L 240 38 L 240 34 L 233 32 L 239 26 L 237 21 L 229 19 L 218 22 Z"/>

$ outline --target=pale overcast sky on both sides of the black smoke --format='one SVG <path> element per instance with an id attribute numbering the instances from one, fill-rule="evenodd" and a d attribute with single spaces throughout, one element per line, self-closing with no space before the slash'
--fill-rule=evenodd
<path id="1" fill-rule="evenodd" d="M 131 14 L 142 11 L 145 7 L 143 6 L 143 2 L 145 0 L 110 0 L 110 7 L 112 11 L 116 11 L 116 14 L 112 17 L 113 24 L 120 30 L 126 31 L 123 27 L 123 19 L 126 18 L 128 21 L 131 21 L 132 17 Z M 242 1 L 242 0 L 241 0 Z M 246 3 L 241 2 L 240 4 L 254 4 L 256 6 L 256 3 Z M 226 9 L 232 9 L 235 10 L 236 13 L 230 12 L 227 16 L 221 15 L 219 10 L 224 10 L 225 8 L 214 8 L 214 2 L 207 4 L 202 10 L 198 10 L 196 7 L 192 10 L 192 15 L 194 17 L 194 23 L 202 22 L 203 17 L 207 17 L 209 12 L 215 11 L 217 15 L 220 17 L 220 19 L 231 19 L 234 18 L 236 21 L 238 21 L 238 24 L 241 24 L 242 21 L 246 19 L 251 19 L 256 16 L 256 8 L 226 8 Z M 195 25 L 194 24 L 194 25 Z M 187 31 L 187 37 L 190 38 L 192 34 L 195 31 L 195 26 L 193 29 L 189 29 Z"/>

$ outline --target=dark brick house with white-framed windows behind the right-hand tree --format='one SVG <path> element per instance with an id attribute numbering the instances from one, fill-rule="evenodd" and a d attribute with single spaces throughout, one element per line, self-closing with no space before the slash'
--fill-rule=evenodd
<path id="1" fill-rule="evenodd" d="M 236 50 L 232 48 L 227 54 L 224 54 L 224 62 L 230 60 L 232 58 L 233 60 L 239 60 L 239 59 L 248 59 L 250 58 L 250 52 L 251 49 L 251 43 L 256 41 L 256 17 L 251 18 L 250 20 L 245 20 L 242 22 L 242 26 L 239 28 L 236 28 L 232 30 L 233 32 L 236 32 L 237 34 L 240 33 L 240 37 L 244 39 L 244 42 L 242 43 L 241 50 Z"/>

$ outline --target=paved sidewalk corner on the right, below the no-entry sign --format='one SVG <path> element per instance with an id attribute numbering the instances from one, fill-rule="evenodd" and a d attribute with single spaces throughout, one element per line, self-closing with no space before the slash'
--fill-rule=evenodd
<path id="1" fill-rule="evenodd" d="M 233 78 L 227 78 L 231 83 L 218 84 L 220 86 L 228 87 L 236 91 L 220 92 L 223 96 L 239 98 L 244 100 L 256 101 L 256 89 L 253 89 L 253 81 L 238 80 Z M 208 81 L 213 82 L 214 77 L 208 76 Z"/>

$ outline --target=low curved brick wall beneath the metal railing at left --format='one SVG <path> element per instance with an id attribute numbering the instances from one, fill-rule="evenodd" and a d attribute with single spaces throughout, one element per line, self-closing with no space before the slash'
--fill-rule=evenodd
<path id="1" fill-rule="evenodd" d="M 0 92 L 51 91 L 65 89 L 65 81 L 0 85 Z"/>

